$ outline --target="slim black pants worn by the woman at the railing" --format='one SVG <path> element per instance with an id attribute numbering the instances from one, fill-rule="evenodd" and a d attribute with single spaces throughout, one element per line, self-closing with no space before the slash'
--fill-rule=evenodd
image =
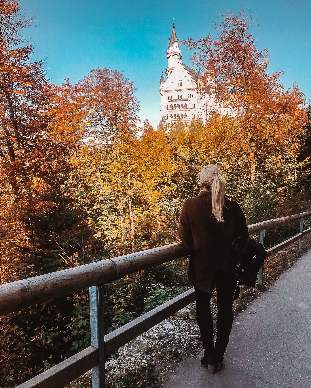
<path id="1" fill-rule="evenodd" d="M 215 281 L 217 290 L 217 339 L 215 341 L 215 348 L 224 353 L 232 329 L 232 300 L 230 300 L 232 295 L 224 272 L 216 271 L 213 284 Z M 204 349 L 214 347 L 213 318 L 210 310 L 213 284 L 209 293 L 194 288 L 196 293 L 197 324 L 201 332 Z"/>

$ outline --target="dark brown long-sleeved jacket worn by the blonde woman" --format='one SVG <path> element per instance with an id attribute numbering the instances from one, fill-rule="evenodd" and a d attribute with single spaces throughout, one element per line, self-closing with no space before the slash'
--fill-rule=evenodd
<path id="1" fill-rule="evenodd" d="M 236 201 L 224 199 L 224 223 L 212 216 L 211 193 L 202 191 L 185 200 L 179 216 L 178 236 L 185 244 L 192 245 L 187 264 L 189 283 L 209 292 L 216 270 L 224 271 L 228 286 L 234 292 L 235 262 L 232 240 L 240 236 L 247 239 L 245 215 Z"/>

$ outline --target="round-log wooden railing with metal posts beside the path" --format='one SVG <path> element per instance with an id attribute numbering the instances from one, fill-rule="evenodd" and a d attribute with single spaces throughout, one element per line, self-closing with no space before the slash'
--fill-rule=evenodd
<path id="1" fill-rule="evenodd" d="M 299 240 L 299 251 L 301 252 L 302 237 L 311 232 L 311 228 L 303 230 L 303 220 L 310 215 L 311 211 L 306 211 L 288 217 L 275 218 L 249 225 L 248 230 L 250 235 L 259 232 L 260 242 L 263 242 L 265 230 L 300 220 L 299 234 L 267 249 L 267 257 L 297 240 Z M 22 308 L 86 288 L 89 288 L 90 294 L 91 346 L 19 385 L 18 388 L 60 388 L 90 369 L 92 369 L 93 388 L 103 388 L 105 386 L 105 358 L 107 359 L 120 346 L 125 345 L 195 300 L 192 288 L 119 329 L 104 335 L 103 284 L 140 270 L 176 260 L 189 253 L 190 247 L 178 242 L 1 285 L 0 315 L 19 311 Z M 259 272 L 259 284 L 263 282 L 263 269 L 262 267 Z"/>

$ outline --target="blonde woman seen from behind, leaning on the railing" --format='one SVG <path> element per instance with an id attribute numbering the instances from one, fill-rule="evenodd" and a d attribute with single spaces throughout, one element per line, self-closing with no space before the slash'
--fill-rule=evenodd
<path id="1" fill-rule="evenodd" d="M 178 236 L 192 245 L 187 265 L 189 283 L 196 293 L 197 323 L 204 346 L 201 364 L 211 373 L 222 369 L 232 329 L 232 297 L 235 289 L 235 260 L 232 240 L 247 239 L 246 218 L 236 201 L 225 197 L 225 179 L 215 165 L 204 166 L 199 180 L 202 191 L 183 203 Z M 217 289 L 217 338 L 214 348 L 210 300 Z"/>

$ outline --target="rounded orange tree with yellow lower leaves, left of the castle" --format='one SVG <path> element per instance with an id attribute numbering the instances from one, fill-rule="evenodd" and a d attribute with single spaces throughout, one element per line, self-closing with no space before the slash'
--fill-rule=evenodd
<path id="1" fill-rule="evenodd" d="M 121 246 L 127 240 L 124 236 L 129 236 L 129 249 L 133 251 L 135 187 L 132 179 L 136 176 L 133 152 L 137 142 L 136 113 L 139 107 L 136 89 L 133 81 L 121 71 L 110 68 L 91 70 L 80 85 L 88 107 L 88 142 L 73 163 L 91 166 L 91 174 L 97 182 L 89 189 L 95 197 L 110 203 L 109 212 L 114 215 L 114 221 L 109 219 L 114 225 L 119 224 Z M 86 160 L 84 156 L 89 155 L 91 150 L 95 153 L 92 153 L 91 159 L 87 156 Z M 103 209 L 106 207 L 103 206 Z M 104 221 L 102 215 L 97 211 L 96 214 Z M 105 230 L 110 229 L 111 222 L 106 220 Z"/>

